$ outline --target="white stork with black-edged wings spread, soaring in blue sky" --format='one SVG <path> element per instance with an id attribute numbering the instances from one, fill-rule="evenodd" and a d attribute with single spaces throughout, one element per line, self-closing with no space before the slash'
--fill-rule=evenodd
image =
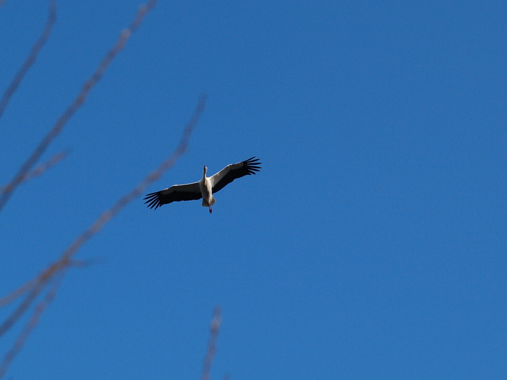
<path id="1" fill-rule="evenodd" d="M 224 169 L 211 177 L 206 177 L 206 165 L 204 165 L 202 178 L 198 182 L 187 183 L 185 185 L 173 185 L 159 192 L 147 194 L 144 198 L 147 200 L 148 207 L 155 210 L 162 205 L 179 201 L 194 201 L 202 198 L 202 205 L 209 208 L 209 213 L 213 211 L 211 206 L 216 202 L 213 194 L 222 190 L 227 184 L 236 178 L 245 175 L 256 174 L 261 169 L 259 159 L 255 156 L 248 160 L 238 162 L 237 164 L 227 165 Z"/>

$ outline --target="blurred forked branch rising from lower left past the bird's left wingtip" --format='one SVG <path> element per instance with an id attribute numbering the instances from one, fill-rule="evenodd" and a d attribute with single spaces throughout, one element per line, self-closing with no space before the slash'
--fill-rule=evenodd
<path id="1" fill-rule="evenodd" d="M 105 223 L 111 220 L 118 212 L 120 212 L 126 205 L 128 205 L 132 200 L 138 197 L 140 194 L 146 190 L 146 188 L 152 184 L 155 180 L 160 178 L 164 172 L 172 167 L 176 161 L 185 153 L 188 147 L 189 139 L 194 130 L 194 127 L 197 125 L 199 118 L 204 111 L 204 106 L 206 104 L 206 96 L 201 95 L 199 98 L 199 102 L 194 109 L 194 113 L 190 118 L 187 126 L 185 127 L 182 138 L 179 141 L 178 146 L 174 150 L 174 152 L 166 159 L 159 167 L 152 173 L 148 174 L 130 193 L 122 197 L 118 202 L 116 202 L 113 207 L 100 215 L 95 222 L 83 233 L 81 234 L 60 256 L 58 260 L 53 262 L 41 275 L 37 276 L 35 280 L 35 285 L 32 285 L 31 282 L 23 285 L 21 288 L 17 289 L 15 292 L 20 292 L 20 289 L 28 288 L 30 292 L 23 300 L 21 305 L 12 313 L 12 315 L 4 322 L 2 326 L 0 326 L 0 336 L 9 330 L 10 327 L 23 315 L 23 313 L 28 309 L 28 307 L 32 304 L 32 302 L 37 298 L 37 296 L 44 290 L 47 284 L 50 281 L 53 281 L 51 288 L 46 294 L 45 298 L 35 307 L 29 321 L 23 327 L 22 332 L 18 335 L 16 342 L 13 347 L 9 350 L 9 352 L 5 355 L 2 364 L 0 364 L 0 378 L 2 378 L 7 371 L 10 363 L 16 357 L 19 350 L 23 347 L 28 335 L 33 330 L 35 325 L 39 322 L 39 319 L 49 305 L 49 303 L 54 299 L 56 292 L 58 291 L 58 287 L 60 286 L 61 279 L 65 275 L 65 272 L 68 268 L 73 267 L 75 265 L 79 265 L 79 261 L 73 259 L 74 254 L 81 248 L 81 246 L 86 243 L 90 238 L 92 238 L 96 233 L 98 233 Z M 55 278 L 57 280 L 55 281 Z M 32 280 L 33 281 L 33 280 Z M 28 286 L 30 284 L 32 287 Z M 56 285 L 55 285 L 56 284 Z M 26 291 L 25 291 L 26 292 Z M 14 292 L 13 292 L 14 293 Z M 11 295 L 13 294 L 11 293 Z M 11 296 L 10 295 L 10 296 Z"/>

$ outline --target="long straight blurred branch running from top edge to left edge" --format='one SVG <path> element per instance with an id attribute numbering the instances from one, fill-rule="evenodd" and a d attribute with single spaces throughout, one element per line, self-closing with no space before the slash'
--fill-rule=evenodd
<path id="1" fill-rule="evenodd" d="M 28 158 L 28 160 L 25 161 L 23 166 L 21 166 L 18 173 L 9 184 L 10 190 L 0 196 L 0 210 L 4 208 L 5 204 L 11 197 L 12 192 L 21 183 L 26 173 L 28 173 L 28 171 L 33 167 L 33 165 L 35 165 L 35 163 L 39 161 L 41 155 L 44 153 L 49 144 L 53 141 L 53 139 L 56 136 L 58 136 L 58 134 L 61 132 L 65 124 L 70 120 L 71 117 L 73 117 L 74 113 L 76 113 L 79 107 L 85 102 L 88 93 L 93 88 L 93 86 L 95 86 L 95 84 L 100 80 L 100 78 L 102 78 L 102 75 L 104 74 L 107 66 L 109 66 L 111 61 L 113 61 L 113 59 L 117 56 L 117 54 L 124 48 L 125 43 L 127 42 L 130 35 L 138 28 L 138 26 L 144 19 L 144 16 L 146 16 L 146 14 L 150 12 L 153 7 L 155 7 L 156 3 L 157 0 L 150 0 L 146 5 L 141 6 L 137 11 L 137 14 L 132 23 L 127 28 L 122 30 L 115 46 L 113 46 L 113 48 L 107 52 L 107 54 L 102 59 L 95 72 L 81 88 L 81 91 L 79 92 L 76 99 L 74 99 L 74 101 L 67 107 L 67 109 L 63 112 L 63 114 L 58 118 L 53 128 L 46 134 L 46 136 L 42 139 L 37 148 L 33 150 L 33 153 Z"/>

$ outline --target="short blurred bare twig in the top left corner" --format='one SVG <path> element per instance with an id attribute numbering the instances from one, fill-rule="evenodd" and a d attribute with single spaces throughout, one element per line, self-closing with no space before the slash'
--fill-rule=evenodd
<path id="1" fill-rule="evenodd" d="M 4 4 L 5 0 L 3 2 L 0 1 L 0 8 Z M 42 34 L 39 37 L 39 40 L 37 40 L 37 42 L 33 45 L 30 54 L 28 55 L 28 58 L 26 58 L 26 60 L 23 62 L 21 68 L 16 73 L 11 84 L 9 85 L 7 90 L 5 90 L 2 99 L 0 99 L 0 119 L 2 118 L 2 115 L 4 115 L 5 108 L 7 107 L 7 104 L 9 104 L 9 100 L 11 100 L 12 95 L 16 92 L 24 76 L 35 62 L 35 59 L 37 58 L 39 51 L 42 49 L 44 44 L 46 44 L 46 41 L 48 41 L 49 35 L 53 30 L 53 25 L 55 24 L 55 21 L 56 21 L 56 0 L 51 0 L 49 2 L 48 21 L 46 21 L 46 26 L 44 27 L 44 30 L 42 31 Z"/>

